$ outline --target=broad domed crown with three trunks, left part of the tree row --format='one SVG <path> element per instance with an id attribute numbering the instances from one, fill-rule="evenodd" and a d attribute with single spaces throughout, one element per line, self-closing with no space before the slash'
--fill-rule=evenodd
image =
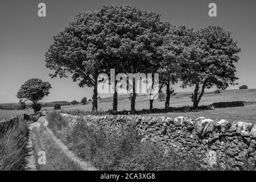
<path id="1" fill-rule="evenodd" d="M 116 73 L 138 73 L 152 63 L 155 47 L 162 41 L 157 35 L 159 16 L 122 5 L 80 13 L 54 37 L 46 53 L 46 67 L 55 71 L 51 77 L 70 73 L 80 86 L 93 86 L 93 108 L 97 110 L 99 73 L 111 68 Z M 131 103 L 135 110 L 135 94 Z M 113 109 L 117 110 L 117 93 Z"/>

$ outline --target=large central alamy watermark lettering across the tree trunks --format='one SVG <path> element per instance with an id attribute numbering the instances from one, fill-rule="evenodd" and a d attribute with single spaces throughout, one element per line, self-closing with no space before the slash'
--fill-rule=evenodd
<path id="1" fill-rule="evenodd" d="M 159 74 L 154 73 L 118 73 L 115 76 L 115 69 L 110 69 L 110 78 L 106 73 L 98 75 L 97 92 L 118 94 L 147 94 L 149 100 L 158 99 Z"/>

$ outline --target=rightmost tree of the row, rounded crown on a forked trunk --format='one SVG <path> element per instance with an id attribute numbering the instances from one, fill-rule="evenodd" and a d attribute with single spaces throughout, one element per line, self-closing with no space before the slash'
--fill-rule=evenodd
<path id="1" fill-rule="evenodd" d="M 204 90 L 212 88 L 226 89 L 235 85 L 238 80 L 235 76 L 241 51 L 231 33 L 219 26 L 209 26 L 196 31 L 191 37 L 193 43 L 186 46 L 183 51 L 181 64 L 182 86 L 195 86 L 193 93 L 193 108 L 197 108 Z M 201 91 L 200 91 L 201 88 Z"/>

